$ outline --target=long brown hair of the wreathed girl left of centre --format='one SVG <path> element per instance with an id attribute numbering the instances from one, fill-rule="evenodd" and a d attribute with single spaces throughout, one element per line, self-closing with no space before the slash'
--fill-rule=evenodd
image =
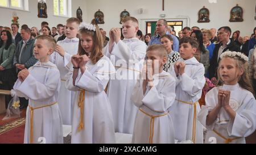
<path id="1" fill-rule="evenodd" d="M 92 53 L 90 55 L 90 60 L 92 61 L 93 64 L 96 64 L 98 62 L 98 60 L 100 60 L 104 56 L 102 53 L 103 39 L 102 39 L 101 31 L 97 26 L 95 26 L 95 27 L 96 27 L 96 31 L 88 30 L 85 27 L 83 27 L 79 30 L 80 36 L 82 33 L 84 33 L 93 38 L 93 49 L 92 49 Z M 88 53 L 86 53 L 85 50 L 82 48 L 81 39 L 79 39 L 78 54 L 80 56 L 88 55 Z"/>

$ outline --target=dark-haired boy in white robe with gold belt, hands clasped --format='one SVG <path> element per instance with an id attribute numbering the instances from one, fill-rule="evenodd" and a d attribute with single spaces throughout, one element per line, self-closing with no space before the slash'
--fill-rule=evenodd
<path id="1" fill-rule="evenodd" d="M 169 112 L 174 122 L 175 139 L 203 143 L 203 125 L 197 120 L 198 100 L 205 85 L 204 65 L 193 54 L 198 43 L 191 37 L 180 40 L 180 60 L 168 70 L 176 78 L 176 99 Z"/>

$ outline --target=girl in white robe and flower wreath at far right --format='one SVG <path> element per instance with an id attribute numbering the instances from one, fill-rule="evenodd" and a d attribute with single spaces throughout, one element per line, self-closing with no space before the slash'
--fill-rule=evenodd
<path id="1" fill-rule="evenodd" d="M 220 56 L 218 78 L 224 83 L 214 87 L 205 97 L 199 113 L 207 128 L 204 143 L 245 143 L 245 137 L 256 129 L 256 100 L 248 71 L 248 58 L 240 52 L 224 52 Z"/>

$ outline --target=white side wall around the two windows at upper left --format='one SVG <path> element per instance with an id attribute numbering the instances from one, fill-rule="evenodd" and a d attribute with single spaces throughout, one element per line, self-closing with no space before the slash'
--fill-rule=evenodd
<path id="1" fill-rule="evenodd" d="M 56 27 L 57 24 L 65 24 L 68 18 L 54 16 L 53 15 L 53 1 L 47 0 L 47 15 L 48 18 L 38 18 L 38 0 L 28 0 L 30 11 L 19 11 L 12 9 L 5 9 L 0 7 L 0 25 L 11 27 L 11 20 L 13 19 L 13 12 L 15 11 L 19 17 L 19 24 L 27 24 L 28 27 L 38 27 L 41 28 L 41 22 L 46 21 L 49 23 L 49 27 Z M 76 10 L 79 8 L 82 10 L 82 18 L 86 20 L 86 1 L 84 0 L 73 0 L 72 1 L 72 16 L 76 17 Z M 19 29 L 20 31 L 20 29 Z"/>

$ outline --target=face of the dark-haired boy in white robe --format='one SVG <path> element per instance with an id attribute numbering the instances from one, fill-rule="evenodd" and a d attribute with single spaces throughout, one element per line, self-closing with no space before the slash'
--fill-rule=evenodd
<path id="1" fill-rule="evenodd" d="M 180 57 L 184 60 L 188 60 L 192 58 L 193 55 L 196 53 L 197 49 L 193 48 L 189 43 L 182 43 L 180 45 Z"/>

